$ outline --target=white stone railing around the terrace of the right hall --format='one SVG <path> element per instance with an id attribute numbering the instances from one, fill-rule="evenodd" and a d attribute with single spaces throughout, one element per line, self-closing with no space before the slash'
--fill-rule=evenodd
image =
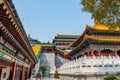
<path id="1" fill-rule="evenodd" d="M 120 72 L 119 56 L 79 58 L 63 64 L 58 69 L 59 74 L 114 74 Z"/>

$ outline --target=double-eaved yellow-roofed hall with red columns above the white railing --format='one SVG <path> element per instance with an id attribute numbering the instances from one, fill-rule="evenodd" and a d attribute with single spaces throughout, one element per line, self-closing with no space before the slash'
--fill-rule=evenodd
<path id="1" fill-rule="evenodd" d="M 110 31 L 107 26 L 95 24 L 87 26 L 83 34 L 72 44 L 74 49 L 68 54 L 72 59 L 120 55 L 120 32 Z"/>

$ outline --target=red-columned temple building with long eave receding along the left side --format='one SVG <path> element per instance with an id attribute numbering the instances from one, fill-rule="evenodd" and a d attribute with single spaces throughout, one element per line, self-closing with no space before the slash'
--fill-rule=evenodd
<path id="1" fill-rule="evenodd" d="M 37 63 L 11 0 L 0 0 L 0 80 L 28 80 Z"/>

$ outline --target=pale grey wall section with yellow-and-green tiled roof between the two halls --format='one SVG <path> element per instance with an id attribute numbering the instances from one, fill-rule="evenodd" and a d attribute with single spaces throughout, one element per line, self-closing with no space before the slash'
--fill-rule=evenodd
<path id="1" fill-rule="evenodd" d="M 41 67 L 44 67 L 46 69 L 44 75 L 46 77 L 49 77 L 50 74 L 54 73 L 54 71 L 56 70 L 55 45 L 51 43 L 37 43 L 33 45 L 33 50 L 38 59 L 38 63 L 33 69 L 32 77 L 36 77 L 36 75 L 43 75 Z"/>

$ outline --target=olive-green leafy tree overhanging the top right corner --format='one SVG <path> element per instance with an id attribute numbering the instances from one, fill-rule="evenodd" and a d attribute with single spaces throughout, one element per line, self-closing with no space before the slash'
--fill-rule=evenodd
<path id="1" fill-rule="evenodd" d="M 120 30 L 120 0 L 81 0 L 81 4 L 97 23 Z"/>

